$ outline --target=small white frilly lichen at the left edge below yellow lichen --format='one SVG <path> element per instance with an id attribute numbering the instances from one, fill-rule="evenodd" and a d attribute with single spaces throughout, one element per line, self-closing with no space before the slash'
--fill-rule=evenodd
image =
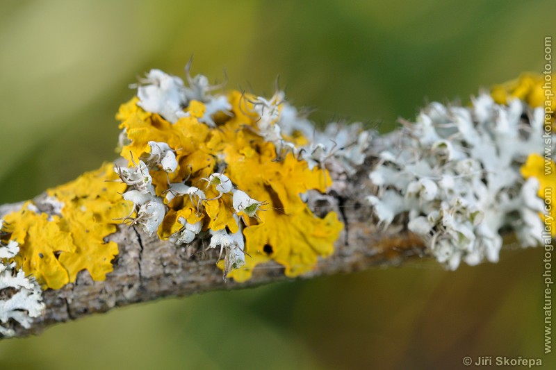
<path id="1" fill-rule="evenodd" d="M 2 221 L 0 220 L 0 229 Z M 30 328 L 33 318 L 44 312 L 42 290 L 33 277 L 25 276 L 22 269 L 17 270 L 15 262 L 10 262 L 19 253 L 17 242 L 0 242 L 0 335 L 15 335 L 10 321 L 24 328 Z"/>

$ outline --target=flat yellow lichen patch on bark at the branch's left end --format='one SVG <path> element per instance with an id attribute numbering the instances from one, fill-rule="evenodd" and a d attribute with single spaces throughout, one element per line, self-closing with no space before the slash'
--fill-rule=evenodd
<path id="1" fill-rule="evenodd" d="M 15 261 L 26 274 L 35 276 L 43 288 L 59 289 L 87 269 L 94 280 L 104 280 L 113 270 L 117 244 L 104 242 L 116 231 L 115 219 L 131 211 L 121 193 L 125 185 L 114 182 L 113 165 L 47 190 L 48 196 L 63 204 L 61 216 L 48 217 L 33 211 L 30 203 L 6 215 L 10 239 L 19 243 Z"/>

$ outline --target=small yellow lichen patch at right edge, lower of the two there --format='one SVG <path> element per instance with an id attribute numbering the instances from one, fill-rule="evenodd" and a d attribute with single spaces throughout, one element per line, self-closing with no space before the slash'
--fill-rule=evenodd
<path id="1" fill-rule="evenodd" d="M 550 232 L 556 236 L 556 164 L 550 158 L 543 158 L 539 154 L 531 154 L 527 162 L 521 167 L 521 175 L 524 178 L 536 178 L 539 181 L 539 192 L 548 209 L 549 217 L 541 214 L 545 227 L 550 227 Z M 548 219 L 547 219 L 548 218 Z"/>

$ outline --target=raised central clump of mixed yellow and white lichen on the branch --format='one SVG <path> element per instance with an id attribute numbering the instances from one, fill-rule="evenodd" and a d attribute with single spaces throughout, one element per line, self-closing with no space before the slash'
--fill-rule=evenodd
<path id="1" fill-rule="evenodd" d="M 135 204 L 130 221 L 177 244 L 211 237 L 209 248 L 224 253 L 224 276 L 237 281 L 270 260 L 298 276 L 332 254 L 341 222 L 334 212 L 316 217 L 300 196 L 326 192 L 332 180 L 323 163 L 314 167 L 306 150 L 281 134 L 284 118 L 288 127 L 296 121 L 282 92 L 268 100 L 237 91 L 211 95 L 204 76 L 188 76 L 185 87 L 158 70 L 142 82 L 117 114 L 126 162 L 115 171 L 129 185 L 124 199 Z M 309 142 L 301 136 L 294 141 Z M 163 156 L 153 142 L 177 167 L 153 160 Z"/>

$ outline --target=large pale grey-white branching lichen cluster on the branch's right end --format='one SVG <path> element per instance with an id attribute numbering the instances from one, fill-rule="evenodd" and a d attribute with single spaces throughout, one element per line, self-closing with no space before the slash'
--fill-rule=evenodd
<path id="1" fill-rule="evenodd" d="M 498 261 L 502 228 L 523 246 L 541 242 L 539 185 L 519 172 L 542 151 L 541 108 L 500 106 L 487 94 L 472 108 L 432 103 L 401 134 L 369 175 L 379 190 L 367 200 L 384 226 L 407 214 L 409 230 L 449 269 Z"/>

